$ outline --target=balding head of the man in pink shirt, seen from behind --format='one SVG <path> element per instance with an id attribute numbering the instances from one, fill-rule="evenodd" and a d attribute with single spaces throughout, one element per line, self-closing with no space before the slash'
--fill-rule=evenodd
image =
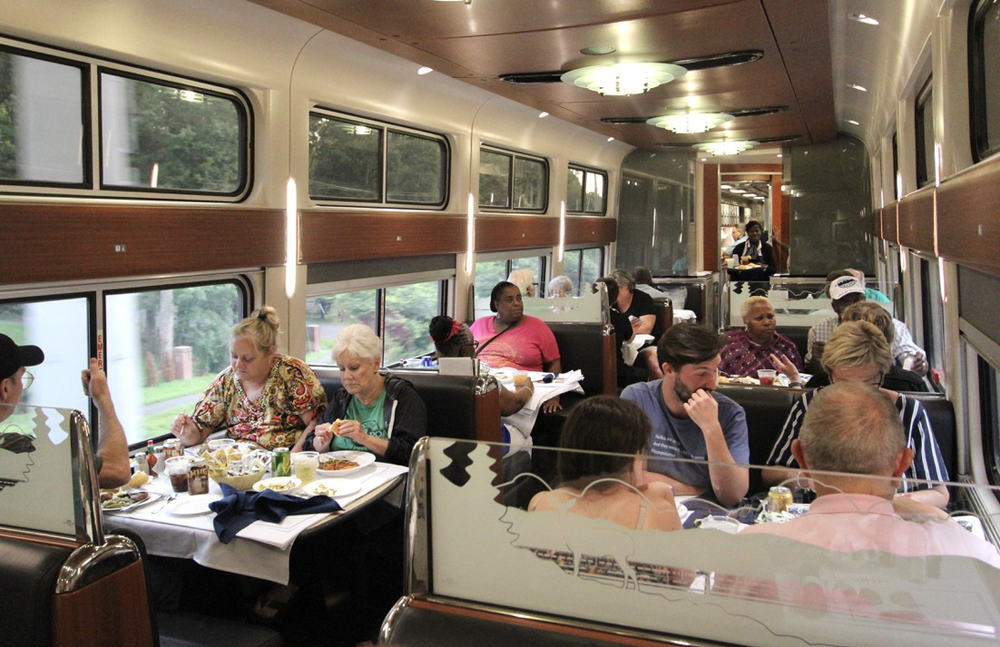
<path id="1" fill-rule="evenodd" d="M 799 436 L 810 469 L 888 476 L 906 446 L 903 423 L 889 398 L 857 382 L 816 392 Z"/>

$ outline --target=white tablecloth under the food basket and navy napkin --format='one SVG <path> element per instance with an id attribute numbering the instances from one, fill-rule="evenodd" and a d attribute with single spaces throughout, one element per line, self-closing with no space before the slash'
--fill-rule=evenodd
<path id="1" fill-rule="evenodd" d="M 338 498 L 337 503 L 347 508 L 406 472 L 407 468 L 402 465 L 374 463 L 357 474 L 342 477 L 361 483 L 361 491 Z M 171 493 L 170 482 L 166 477 L 155 479 L 144 489 L 163 495 Z M 209 486 L 209 493 L 222 495 L 214 481 Z M 178 495 L 185 496 L 188 495 Z M 237 533 L 236 539 L 228 544 L 220 542 L 215 534 L 213 513 L 190 517 L 174 516 L 162 505 L 162 499 L 132 512 L 106 513 L 104 525 L 112 530 L 124 528 L 138 534 L 151 555 L 193 559 L 202 566 L 287 584 L 289 556 L 295 538 L 329 516 L 291 515 L 279 524 L 255 521 Z"/>

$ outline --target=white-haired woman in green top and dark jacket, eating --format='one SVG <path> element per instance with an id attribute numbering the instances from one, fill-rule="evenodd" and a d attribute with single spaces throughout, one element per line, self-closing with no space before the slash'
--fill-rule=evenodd
<path id="1" fill-rule="evenodd" d="M 407 465 L 417 439 L 427 435 L 427 407 L 413 385 L 379 371 L 382 341 L 367 326 L 341 330 L 331 355 L 344 386 L 333 394 L 322 424 L 293 451 L 353 449 Z"/>

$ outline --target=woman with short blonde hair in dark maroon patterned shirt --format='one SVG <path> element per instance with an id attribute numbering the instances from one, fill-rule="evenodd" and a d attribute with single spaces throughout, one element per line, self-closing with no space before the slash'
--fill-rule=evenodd
<path id="1" fill-rule="evenodd" d="M 757 377 L 757 371 L 776 369 L 793 386 L 799 381 L 802 356 L 788 337 L 777 331 L 774 306 L 766 297 L 750 297 L 740 306 L 743 328 L 726 333 L 719 372 L 730 377 Z"/>

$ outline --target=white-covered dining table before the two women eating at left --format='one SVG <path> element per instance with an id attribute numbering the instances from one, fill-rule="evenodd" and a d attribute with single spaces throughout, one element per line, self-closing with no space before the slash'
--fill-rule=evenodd
<path id="1" fill-rule="evenodd" d="M 209 568 L 287 584 L 291 549 L 297 539 L 323 532 L 376 501 L 402 507 L 407 473 L 405 465 L 366 465 L 338 478 L 351 485 L 344 496 L 334 495 L 341 510 L 289 515 L 280 523 L 257 520 L 229 543 L 220 541 L 215 513 L 207 506 L 208 501 L 222 498 L 219 485 L 210 480 L 208 495 L 196 501 L 187 493 L 174 493 L 169 478 L 161 473 L 142 486 L 150 495 L 143 505 L 105 511 L 104 525 L 112 532 L 124 529 L 137 534 L 151 555 L 192 559 Z"/>

